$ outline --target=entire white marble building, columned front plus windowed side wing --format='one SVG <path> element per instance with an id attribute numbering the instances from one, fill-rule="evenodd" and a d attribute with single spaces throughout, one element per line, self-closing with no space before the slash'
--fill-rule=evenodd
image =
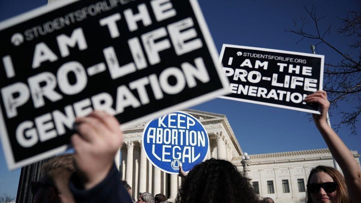
<path id="1" fill-rule="evenodd" d="M 240 172 L 244 171 L 245 165 L 245 173 L 252 179 L 251 183 L 260 197 L 269 196 L 282 203 L 304 203 L 310 169 L 317 165 L 333 167 L 328 149 L 249 155 L 250 161 L 243 161 L 242 165 L 244 153 L 225 115 L 191 109 L 183 111 L 196 117 L 205 127 L 210 143 L 207 158 L 231 161 Z M 162 172 L 147 160 L 141 142 L 145 125 L 142 123 L 123 129 L 124 144 L 116 156 L 122 180 L 132 187 L 133 200 L 138 198 L 139 192 L 149 192 L 165 194 L 174 202 L 182 179 Z M 360 163 L 357 151 L 352 153 Z"/>

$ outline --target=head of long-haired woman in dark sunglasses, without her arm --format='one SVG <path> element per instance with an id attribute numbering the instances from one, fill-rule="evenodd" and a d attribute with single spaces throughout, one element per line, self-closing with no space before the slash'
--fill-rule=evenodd
<path id="1" fill-rule="evenodd" d="M 306 203 L 350 203 L 342 174 L 327 166 L 312 169 L 307 180 Z"/>

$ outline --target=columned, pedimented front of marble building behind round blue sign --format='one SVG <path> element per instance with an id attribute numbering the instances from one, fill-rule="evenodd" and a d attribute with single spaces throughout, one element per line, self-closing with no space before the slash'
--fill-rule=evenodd
<path id="1" fill-rule="evenodd" d="M 224 115 L 185 109 L 184 112 L 196 117 L 205 127 L 210 149 L 207 158 L 225 159 L 242 156 L 243 152 L 234 132 Z M 122 179 L 132 187 L 132 199 L 138 198 L 139 192 L 162 193 L 174 201 L 182 179 L 174 174 L 167 174 L 154 167 L 142 150 L 142 133 L 146 123 L 123 130 L 124 144 L 119 149 L 116 162 L 120 159 L 119 170 Z M 131 160 L 131 161 L 128 161 Z"/>

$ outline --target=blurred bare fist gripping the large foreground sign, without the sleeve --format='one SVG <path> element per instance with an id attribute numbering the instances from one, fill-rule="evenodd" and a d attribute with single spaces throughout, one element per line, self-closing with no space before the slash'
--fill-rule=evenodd
<path id="1" fill-rule="evenodd" d="M 123 133 L 115 117 L 94 111 L 87 117 L 78 117 L 79 134 L 71 137 L 74 160 L 81 174 L 85 189 L 91 189 L 108 174 L 114 155 L 123 142 Z"/>

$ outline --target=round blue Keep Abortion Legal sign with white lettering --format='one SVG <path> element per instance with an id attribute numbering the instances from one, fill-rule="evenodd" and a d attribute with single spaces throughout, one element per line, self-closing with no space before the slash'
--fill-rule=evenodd
<path id="1" fill-rule="evenodd" d="M 209 138 L 197 118 L 174 112 L 149 121 L 142 136 L 143 151 L 158 169 L 178 174 L 179 166 L 190 171 L 206 159 Z"/>

